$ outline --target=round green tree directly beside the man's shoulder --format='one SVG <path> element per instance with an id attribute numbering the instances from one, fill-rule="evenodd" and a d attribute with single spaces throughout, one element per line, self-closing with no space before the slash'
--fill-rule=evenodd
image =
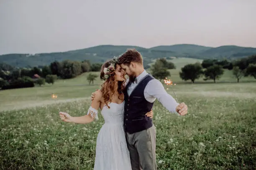
<path id="1" fill-rule="evenodd" d="M 160 81 L 163 80 L 165 77 L 171 76 L 170 72 L 164 67 L 164 64 L 161 60 L 156 60 L 156 63 L 151 66 L 152 76 Z"/>

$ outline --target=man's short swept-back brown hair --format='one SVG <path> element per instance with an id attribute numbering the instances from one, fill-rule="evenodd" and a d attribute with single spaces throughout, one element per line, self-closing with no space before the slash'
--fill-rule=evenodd
<path id="1" fill-rule="evenodd" d="M 143 58 L 141 53 L 139 53 L 135 49 L 129 49 L 123 55 L 121 55 L 118 59 L 119 64 L 130 65 L 131 62 L 137 62 L 143 65 Z"/>

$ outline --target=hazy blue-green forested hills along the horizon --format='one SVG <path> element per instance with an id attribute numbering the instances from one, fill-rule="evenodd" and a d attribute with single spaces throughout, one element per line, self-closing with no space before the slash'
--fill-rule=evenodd
<path id="1" fill-rule="evenodd" d="M 0 55 L 0 62 L 15 66 L 41 66 L 49 65 L 51 62 L 62 60 L 90 60 L 91 63 L 104 62 L 113 56 L 119 56 L 129 48 L 135 48 L 141 52 L 144 64 L 151 63 L 151 60 L 160 57 L 190 57 L 198 59 L 223 59 L 230 60 L 247 57 L 256 54 L 256 48 L 221 46 L 205 47 L 193 44 L 179 44 L 169 46 L 157 46 L 152 48 L 143 48 L 138 46 L 125 45 L 99 45 L 95 47 L 84 48 L 80 50 L 71 50 L 67 52 L 51 52 L 40 54 L 7 54 Z"/>

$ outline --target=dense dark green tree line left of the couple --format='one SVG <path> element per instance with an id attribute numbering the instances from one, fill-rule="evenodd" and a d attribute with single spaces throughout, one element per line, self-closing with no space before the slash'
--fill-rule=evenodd
<path id="1" fill-rule="evenodd" d="M 54 84 L 57 78 L 69 79 L 77 77 L 84 72 L 100 71 L 102 64 L 90 64 L 89 60 L 79 61 L 54 61 L 50 65 L 33 68 L 15 68 L 10 65 L 0 64 L 0 88 L 34 87 L 35 84 L 44 85 L 45 82 Z"/>

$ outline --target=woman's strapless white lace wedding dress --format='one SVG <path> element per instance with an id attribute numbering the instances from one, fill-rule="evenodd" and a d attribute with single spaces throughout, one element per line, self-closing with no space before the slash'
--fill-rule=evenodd
<path id="1" fill-rule="evenodd" d="M 97 137 L 94 170 L 131 170 L 123 128 L 124 102 L 111 102 L 109 106 L 101 110 L 105 124 Z"/>

